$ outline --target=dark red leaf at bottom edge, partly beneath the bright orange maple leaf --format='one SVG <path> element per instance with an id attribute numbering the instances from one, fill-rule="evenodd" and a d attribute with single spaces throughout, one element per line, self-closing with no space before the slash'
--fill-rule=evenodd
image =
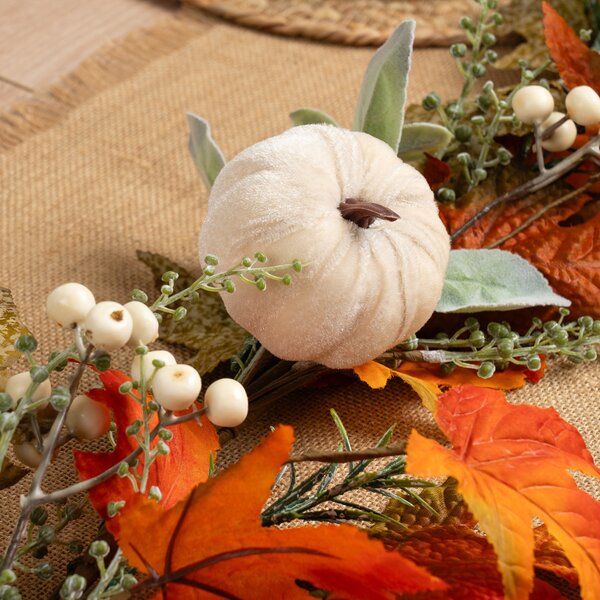
<path id="1" fill-rule="evenodd" d="M 418 594 L 427 600 L 503 600 L 502 577 L 493 546 L 464 525 L 422 527 L 400 534 L 396 549 L 449 584 L 448 590 Z M 389 544 L 388 544 L 389 547 Z M 412 596 L 403 596 L 408 600 Z M 563 596 L 551 585 L 535 579 L 530 600 Z"/>

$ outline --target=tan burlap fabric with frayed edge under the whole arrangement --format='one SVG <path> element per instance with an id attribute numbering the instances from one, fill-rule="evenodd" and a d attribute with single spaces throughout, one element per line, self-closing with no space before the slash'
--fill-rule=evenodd
<path id="1" fill-rule="evenodd" d="M 41 353 L 66 342 L 44 315 L 46 294 L 56 285 L 80 281 L 97 299 L 117 301 L 134 287 L 150 290 L 150 274 L 135 257 L 138 248 L 195 268 L 206 193 L 187 152 L 186 111 L 210 120 L 228 157 L 286 129 L 288 112 L 301 106 L 322 108 L 349 124 L 371 56 L 369 49 L 290 40 L 184 15 L 113 44 L 51 93 L 2 115 L 0 285 L 13 290 Z M 432 88 L 453 93 L 459 84 L 446 51 L 416 53 L 412 100 Z M 129 360 L 124 353 L 116 362 L 127 368 Z M 510 397 L 555 406 L 599 457 L 599 379 L 597 363 L 555 365 L 540 384 Z M 382 392 L 352 384 L 303 391 L 273 406 L 226 446 L 221 464 L 280 422 L 295 426 L 298 450 L 334 449 L 330 408 L 357 447 L 372 445 L 392 422 L 398 438 L 412 427 L 439 436 L 401 383 Z M 64 451 L 47 487 L 73 480 Z M 28 483 L 26 478 L 0 495 L 3 540 Z M 600 486 L 585 485 L 600 495 Z M 77 524 L 78 537 L 93 539 L 97 525 L 89 510 Z M 62 537 L 74 536 L 70 529 Z M 67 559 L 64 554 L 57 566 Z M 48 598 L 52 588 L 32 579 L 26 597 Z"/>

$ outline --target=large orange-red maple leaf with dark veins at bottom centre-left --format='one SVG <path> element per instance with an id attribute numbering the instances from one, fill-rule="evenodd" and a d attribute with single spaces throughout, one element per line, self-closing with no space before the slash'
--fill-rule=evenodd
<path id="1" fill-rule="evenodd" d="M 134 498 L 118 517 L 119 545 L 132 566 L 155 573 L 139 588 L 162 584 L 164 597 L 178 600 L 305 599 L 306 591 L 295 585 L 300 579 L 343 598 L 391 600 L 446 587 L 350 525 L 261 527 L 262 506 L 292 443 L 292 429 L 278 427 L 167 511 Z"/>

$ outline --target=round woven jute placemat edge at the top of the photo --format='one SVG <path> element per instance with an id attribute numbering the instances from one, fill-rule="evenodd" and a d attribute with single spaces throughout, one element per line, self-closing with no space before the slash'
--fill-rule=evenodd
<path id="1" fill-rule="evenodd" d="M 379 46 L 404 19 L 415 19 L 417 46 L 463 39 L 458 20 L 477 10 L 473 0 L 184 0 L 207 12 L 293 37 Z"/>

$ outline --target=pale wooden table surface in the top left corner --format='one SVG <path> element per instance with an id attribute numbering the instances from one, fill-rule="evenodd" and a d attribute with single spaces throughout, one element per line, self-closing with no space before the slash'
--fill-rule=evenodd
<path id="1" fill-rule="evenodd" d="M 0 109 L 43 91 L 111 39 L 177 7 L 176 0 L 1 0 Z"/>

